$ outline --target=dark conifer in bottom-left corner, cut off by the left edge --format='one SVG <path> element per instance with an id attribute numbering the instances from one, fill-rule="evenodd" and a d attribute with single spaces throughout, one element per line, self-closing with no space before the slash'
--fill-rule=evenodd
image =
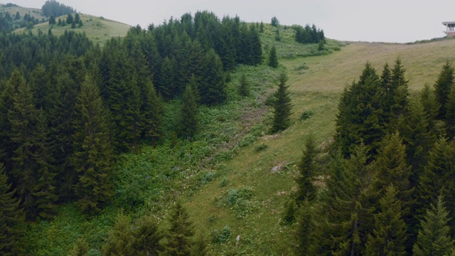
<path id="1" fill-rule="evenodd" d="M 5 174 L 3 164 L 0 164 L 0 253 L 1 255 L 20 255 L 21 245 L 18 240 L 23 230 L 18 227 L 23 220 L 23 210 L 11 191 L 11 184 Z"/>

